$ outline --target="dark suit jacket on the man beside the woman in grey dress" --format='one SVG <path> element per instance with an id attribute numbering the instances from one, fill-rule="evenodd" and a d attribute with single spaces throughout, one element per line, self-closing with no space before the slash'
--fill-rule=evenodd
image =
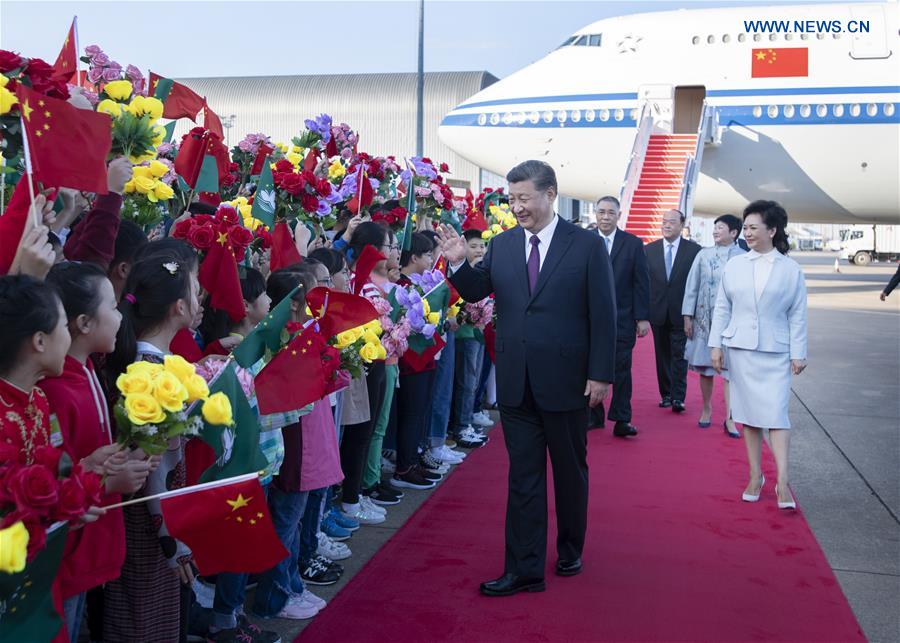
<path id="1" fill-rule="evenodd" d="M 647 268 L 650 270 L 650 323 L 662 325 L 669 321 L 678 326 L 683 325 L 681 302 L 684 299 L 684 286 L 694 257 L 700 252 L 700 245 L 687 239 L 681 240 L 668 281 L 663 240 L 648 243 L 644 246 L 644 252 L 647 255 Z"/>

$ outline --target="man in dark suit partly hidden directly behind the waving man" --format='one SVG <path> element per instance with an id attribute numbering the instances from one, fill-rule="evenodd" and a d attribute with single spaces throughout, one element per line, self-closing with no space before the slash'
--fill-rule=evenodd
<path id="1" fill-rule="evenodd" d="M 634 350 L 635 335 L 644 337 L 650 332 L 650 274 L 644 255 L 644 242 L 624 230 L 619 230 L 619 200 L 605 196 L 597 201 L 594 216 L 597 230 L 603 239 L 613 267 L 616 284 L 616 376 L 613 382 L 612 401 L 609 405 L 609 419 L 616 423 L 613 435 L 625 438 L 637 435 L 631 424 L 631 352 Z M 599 417 L 603 422 L 603 405 Z"/>

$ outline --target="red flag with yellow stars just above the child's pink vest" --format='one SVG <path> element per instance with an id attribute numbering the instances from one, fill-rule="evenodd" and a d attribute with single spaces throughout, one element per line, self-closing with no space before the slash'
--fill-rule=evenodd
<path id="1" fill-rule="evenodd" d="M 324 349 L 325 340 L 310 324 L 273 357 L 254 380 L 259 412 L 287 413 L 325 397 Z"/>

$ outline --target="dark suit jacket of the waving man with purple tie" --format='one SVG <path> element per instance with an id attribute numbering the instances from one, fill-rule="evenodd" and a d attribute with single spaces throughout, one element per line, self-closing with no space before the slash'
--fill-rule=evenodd
<path id="1" fill-rule="evenodd" d="M 494 293 L 500 404 L 522 404 L 526 369 L 543 411 L 583 409 L 588 379 L 613 381 L 615 291 L 606 245 L 596 234 L 560 219 L 532 294 L 518 226 L 491 239 L 482 262 L 464 263 L 450 281 L 466 301 Z"/>

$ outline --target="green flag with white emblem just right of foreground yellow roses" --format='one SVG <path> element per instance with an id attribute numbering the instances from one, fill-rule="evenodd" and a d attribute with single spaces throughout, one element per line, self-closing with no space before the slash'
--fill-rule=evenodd
<path id="1" fill-rule="evenodd" d="M 231 402 L 234 424 L 230 427 L 203 423 L 200 438 L 213 448 L 216 461 L 200 475 L 200 482 L 224 480 L 262 471 L 268 465 L 259 449 L 259 419 L 238 381 L 234 364 L 225 366 L 209 386 L 209 393 L 224 393 Z M 200 412 L 198 404 L 194 413 Z"/>

